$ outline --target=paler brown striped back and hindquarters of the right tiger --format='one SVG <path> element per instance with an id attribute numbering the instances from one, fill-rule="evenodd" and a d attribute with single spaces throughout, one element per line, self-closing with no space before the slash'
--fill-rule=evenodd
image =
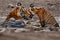
<path id="1" fill-rule="evenodd" d="M 51 24 L 55 27 L 59 27 L 59 24 L 57 23 L 56 19 L 54 18 L 54 16 L 51 15 L 50 12 L 45 11 L 44 19 L 45 19 L 46 24 Z"/>

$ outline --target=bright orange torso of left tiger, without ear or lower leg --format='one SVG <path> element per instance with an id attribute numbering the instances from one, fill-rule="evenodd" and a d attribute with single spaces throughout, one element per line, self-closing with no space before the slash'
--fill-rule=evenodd
<path id="1" fill-rule="evenodd" d="M 17 6 L 11 10 L 11 12 L 7 15 L 6 20 L 10 18 L 15 18 L 16 20 L 22 19 L 20 16 L 20 12 L 22 11 L 22 6 Z"/>

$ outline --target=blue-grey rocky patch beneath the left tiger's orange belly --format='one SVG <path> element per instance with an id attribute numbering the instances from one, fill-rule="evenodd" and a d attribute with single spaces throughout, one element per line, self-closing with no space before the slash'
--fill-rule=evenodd
<path id="1" fill-rule="evenodd" d="M 6 26 L 21 28 L 24 26 L 24 22 L 23 20 L 9 20 L 8 23 L 6 23 Z"/>

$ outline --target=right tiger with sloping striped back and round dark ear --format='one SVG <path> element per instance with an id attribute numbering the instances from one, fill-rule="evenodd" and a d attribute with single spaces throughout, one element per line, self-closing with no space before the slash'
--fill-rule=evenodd
<path id="1" fill-rule="evenodd" d="M 59 24 L 55 20 L 55 18 L 52 16 L 52 14 L 47 11 L 45 8 L 35 7 L 34 5 L 30 5 L 31 7 L 31 15 L 37 14 L 40 20 L 41 27 L 45 27 L 46 24 L 50 24 L 52 26 L 59 27 Z M 31 16 L 33 17 L 33 16 Z M 53 30 L 53 29 L 50 29 Z"/>

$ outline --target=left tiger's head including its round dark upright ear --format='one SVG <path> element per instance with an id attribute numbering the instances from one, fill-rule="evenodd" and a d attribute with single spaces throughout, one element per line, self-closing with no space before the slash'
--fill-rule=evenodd
<path id="1" fill-rule="evenodd" d="M 32 18 L 32 13 L 30 12 L 30 10 L 25 10 L 24 7 L 21 6 L 22 4 L 20 2 L 17 3 L 17 6 L 19 7 L 18 9 L 20 10 L 20 15 L 22 18 L 29 20 Z"/>

